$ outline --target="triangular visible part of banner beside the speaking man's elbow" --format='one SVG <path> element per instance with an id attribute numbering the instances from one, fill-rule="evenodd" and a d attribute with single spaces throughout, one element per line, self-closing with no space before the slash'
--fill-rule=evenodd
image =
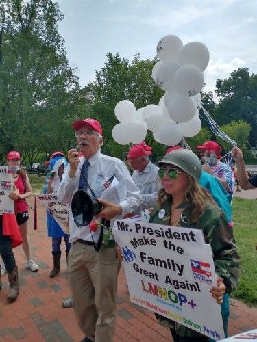
<path id="1" fill-rule="evenodd" d="M 66 205 L 58 202 L 56 194 L 35 194 L 42 205 L 46 207 L 53 218 L 58 222 L 64 233 L 69 234 L 68 214 L 69 208 Z"/>

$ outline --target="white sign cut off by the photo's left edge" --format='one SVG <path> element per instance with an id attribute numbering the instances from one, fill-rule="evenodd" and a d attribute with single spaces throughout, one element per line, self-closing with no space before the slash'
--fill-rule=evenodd
<path id="1" fill-rule="evenodd" d="M 8 196 L 13 191 L 12 174 L 8 173 L 8 166 L 0 166 L 0 214 L 14 213 L 14 201 Z"/>

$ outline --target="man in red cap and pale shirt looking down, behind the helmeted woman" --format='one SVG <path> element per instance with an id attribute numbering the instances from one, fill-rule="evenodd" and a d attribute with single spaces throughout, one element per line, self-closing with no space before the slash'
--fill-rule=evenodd
<path id="1" fill-rule="evenodd" d="M 154 207 L 161 187 L 158 176 L 159 168 L 149 161 L 151 150 L 151 146 L 141 142 L 132 146 L 127 153 L 127 161 L 134 170 L 132 179 L 140 189 L 140 195 L 143 198 L 143 203 L 134 211 L 135 215 Z"/>

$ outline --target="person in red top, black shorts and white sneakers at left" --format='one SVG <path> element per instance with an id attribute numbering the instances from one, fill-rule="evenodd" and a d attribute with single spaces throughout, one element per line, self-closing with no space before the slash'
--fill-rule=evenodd
<path id="1" fill-rule="evenodd" d="M 38 265 L 33 259 L 31 259 L 29 237 L 27 234 L 27 226 L 29 220 L 29 212 L 26 198 L 32 196 L 32 187 L 29 182 L 27 172 L 20 167 L 21 156 L 17 151 L 10 151 L 6 157 L 8 168 L 12 172 L 14 179 L 14 185 L 18 192 L 10 194 L 10 198 L 14 200 L 14 209 L 16 214 L 16 220 L 21 231 L 21 237 L 23 239 L 23 251 L 27 259 L 27 268 L 32 272 L 38 271 Z"/>

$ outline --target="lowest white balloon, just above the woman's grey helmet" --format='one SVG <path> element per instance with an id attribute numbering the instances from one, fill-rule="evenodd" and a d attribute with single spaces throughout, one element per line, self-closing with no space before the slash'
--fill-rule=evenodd
<path id="1" fill-rule="evenodd" d="M 174 146 L 182 140 L 182 132 L 180 131 L 179 124 L 175 122 L 167 122 L 162 125 L 158 131 L 158 137 L 164 145 Z"/>

